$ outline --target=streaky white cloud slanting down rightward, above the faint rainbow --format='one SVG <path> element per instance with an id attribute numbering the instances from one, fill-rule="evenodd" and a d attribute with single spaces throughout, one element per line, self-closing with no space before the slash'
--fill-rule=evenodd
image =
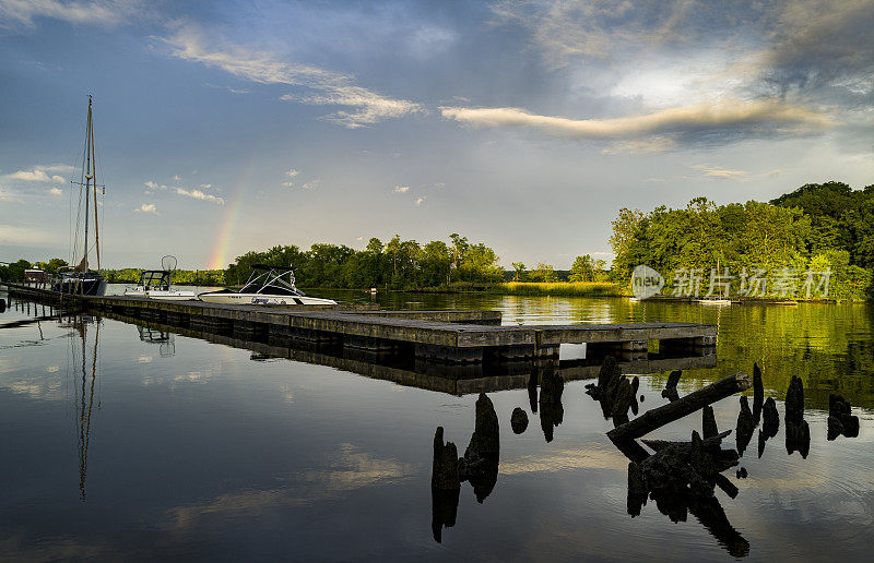
<path id="1" fill-rule="evenodd" d="M 351 76 L 336 72 L 276 60 L 269 52 L 250 50 L 237 45 L 208 45 L 196 27 L 180 28 L 163 39 L 172 47 L 170 55 L 180 59 L 217 68 L 235 76 L 260 84 L 303 86 L 316 94 L 284 94 L 280 99 L 318 106 L 345 106 L 326 119 L 349 129 L 366 127 L 383 119 L 424 111 L 405 99 L 393 99 L 354 84 Z"/>

